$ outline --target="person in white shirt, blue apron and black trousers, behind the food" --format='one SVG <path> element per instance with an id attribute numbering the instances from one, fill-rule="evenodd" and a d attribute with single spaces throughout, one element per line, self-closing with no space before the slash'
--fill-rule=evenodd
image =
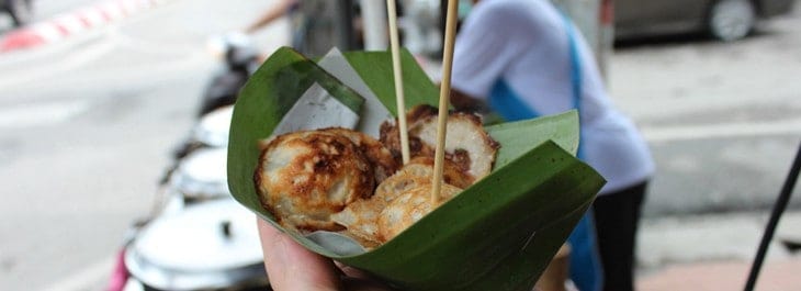
<path id="1" fill-rule="evenodd" d="M 594 215 L 571 236 L 572 256 L 580 259 L 580 244 L 590 245 L 584 251 L 591 253 L 594 217 L 605 276 L 582 279 L 580 272 L 591 268 L 586 260 L 578 266 L 573 260 L 572 278 L 582 290 L 598 290 L 601 281 L 603 290 L 633 290 L 640 210 L 655 171 L 646 143 L 612 105 L 580 33 L 551 2 L 475 2 L 455 41 L 452 104 L 493 111 L 508 121 L 578 109 L 578 157 L 608 182 L 594 203 Z M 585 239 L 576 239 L 582 235 Z"/>

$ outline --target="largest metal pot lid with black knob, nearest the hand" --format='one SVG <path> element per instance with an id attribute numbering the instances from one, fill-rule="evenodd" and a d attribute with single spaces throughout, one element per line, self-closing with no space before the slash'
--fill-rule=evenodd
<path id="1" fill-rule="evenodd" d="M 195 273 L 263 261 L 256 217 L 233 199 L 204 202 L 158 217 L 128 249 L 148 265 Z"/>

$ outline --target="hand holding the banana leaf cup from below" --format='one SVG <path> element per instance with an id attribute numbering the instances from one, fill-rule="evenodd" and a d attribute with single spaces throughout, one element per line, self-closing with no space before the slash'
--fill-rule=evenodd
<path id="1" fill-rule="evenodd" d="M 353 268 L 309 251 L 263 220 L 258 224 L 264 267 L 275 291 L 393 290 Z"/>

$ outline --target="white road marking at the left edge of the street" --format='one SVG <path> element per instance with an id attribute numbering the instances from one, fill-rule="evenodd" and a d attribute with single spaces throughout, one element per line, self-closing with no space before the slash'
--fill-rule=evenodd
<path id="1" fill-rule="evenodd" d="M 57 124 L 89 110 L 89 101 L 30 103 L 0 109 L 0 128 Z"/>

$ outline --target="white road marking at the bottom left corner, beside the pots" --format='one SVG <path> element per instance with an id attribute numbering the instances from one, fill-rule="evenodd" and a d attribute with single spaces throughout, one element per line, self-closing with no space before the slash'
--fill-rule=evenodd
<path id="1" fill-rule="evenodd" d="M 95 261 L 88 265 L 89 267 L 74 272 L 58 282 L 52 283 L 41 291 L 80 291 L 92 288 L 94 284 L 103 282 L 111 277 L 114 264 L 116 262 L 115 260 L 116 256 L 110 256 L 108 259 Z"/>

